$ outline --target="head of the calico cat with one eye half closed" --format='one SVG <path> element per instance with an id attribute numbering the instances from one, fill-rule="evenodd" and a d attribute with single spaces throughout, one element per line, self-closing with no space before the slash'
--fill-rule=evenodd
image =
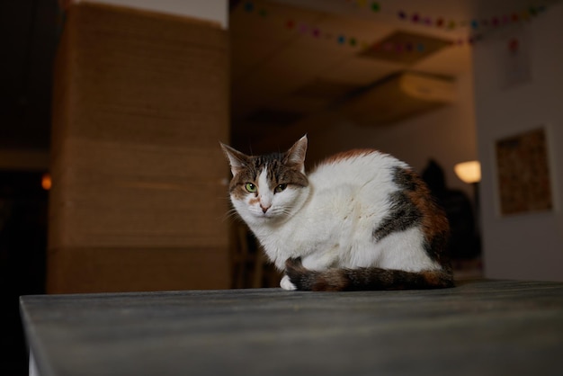
<path id="1" fill-rule="evenodd" d="M 233 206 L 249 225 L 289 218 L 308 196 L 305 175 L 307 136 L 285 153 L 247 156 L 221 144 L 233 178 L 229 192 Z"/>

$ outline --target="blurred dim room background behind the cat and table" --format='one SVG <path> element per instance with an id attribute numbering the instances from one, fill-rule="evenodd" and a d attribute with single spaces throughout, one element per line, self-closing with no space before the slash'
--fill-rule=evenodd
<path id="1" fill-rule="evenodd" d="M 562 17 L 555 0 L 2 2 L 0 373 L 27 373 L 22 294 L 277 286 L 228 215 L 219 141 L 307 133 L 309 167 L 390 153 L 445 207 L 456 278 L 563 281 Z"/>

